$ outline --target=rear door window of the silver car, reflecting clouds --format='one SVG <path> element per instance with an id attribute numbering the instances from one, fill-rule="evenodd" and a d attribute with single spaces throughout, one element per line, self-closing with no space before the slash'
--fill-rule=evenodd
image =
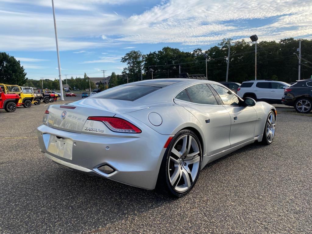
<path id="1" fill-rule="evenodd" d="M 216 98 L 206 84 L 193 85 L 186 90 L 194 103 L 218 105 Z"/>

